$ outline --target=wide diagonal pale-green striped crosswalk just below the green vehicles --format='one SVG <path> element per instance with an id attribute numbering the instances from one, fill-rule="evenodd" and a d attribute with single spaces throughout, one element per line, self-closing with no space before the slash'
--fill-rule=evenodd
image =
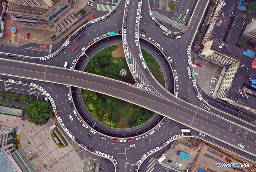
<path id="1" fill-rule="evenodd" d="M 158 19 L 158 21 L 163 21 L 164 23 L 167 23 L 168 25 L 172 24 L 172 27 L 175 27 L 177 29 L 180 29 L 180 30 L 184 30 L 187 26 L 176 21 L 176 20 L 173 20 L 173 19 L 170 19 L 166 16 L 164 16 L 163 14 L 159 13 L 159 12 L 156 12 L 156 11 L 152 11 L 154 17 L 156 19 Z M 159 22 L 160 22 L 159 21 Z M 160 22 L 161 23 L 161 22 Z"/>

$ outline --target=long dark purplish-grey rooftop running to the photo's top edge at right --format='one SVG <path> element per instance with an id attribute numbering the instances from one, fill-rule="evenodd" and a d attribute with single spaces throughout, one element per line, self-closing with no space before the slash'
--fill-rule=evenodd
<path id="1" fill-rule="evenodd" d="M 230 15 L 236 4 L 236 0 L 225 0 L 218 19 L 216 20 L 215 27 L 212 30 L 212 35 L 210 40 L 219 39 L 224 40 L 224 37 L 229 29 L 229 24 L 231 22 Z"/>

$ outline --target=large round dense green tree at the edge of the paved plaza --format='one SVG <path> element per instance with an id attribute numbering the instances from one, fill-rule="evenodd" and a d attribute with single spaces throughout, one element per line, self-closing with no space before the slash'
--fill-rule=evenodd
<path id="1" fill-rule="evenodd" d="M 24 110 L 27 114 L 29 122 L 33 122 L 36 126 L 44 125 L 47 118 L 52 117 L 52 106 L 45 101 L 35 100 Z"/>

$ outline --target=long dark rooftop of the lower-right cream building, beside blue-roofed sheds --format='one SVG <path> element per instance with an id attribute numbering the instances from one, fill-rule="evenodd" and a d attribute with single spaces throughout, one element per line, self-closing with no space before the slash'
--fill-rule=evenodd
<path id="1" fill-rule="evenodd" d="M 236 74 L 234 76 L 234 79 L 232 81 L 231 87 L 229 88 L 228 94 L 227 94 L 227 98 L 237 101 L 239 99 L 240 103 L 241 103 L 241 99 L 239 97 L 240 95 L 240 91 L 243 88 L 244 83 L 246 82 L 246 79 L 248 79 L 248 70 L 250 68 L 250 66 L 252 65 L 252 60 L 251 58 L 247 57 L 247 56 L 242 56 L 241 60 L 240 60 L 240 65 L 236 71 Z M 248 100 L 246 98 L 241 97 L 244 101 Z M 241 104 L 245 104 L 245 103 L 241 103 Z M 251 103 L 250 103 L 251 104 Z M 250 104 L 248 104 L 247 106 L 250 106 Z M 255 104 L 254 104 L 255 106 Z M 253 107 L 253 106 L 251 106 Z M 253 107 L 254 108 L 254 107 Z"/>

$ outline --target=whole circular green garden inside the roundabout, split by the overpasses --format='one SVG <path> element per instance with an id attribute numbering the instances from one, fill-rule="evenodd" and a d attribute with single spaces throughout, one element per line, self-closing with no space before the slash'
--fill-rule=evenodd
<path id="1" fill-rule="evenodd" d="M 142 51 L 150 72 L 164 85 L 162 70 L 157 61 L 147 52 Z M 120 70 L 127 74 L 122 76 Z M 160 69 L 160 70 L 159 70 Z M 107 47 L 88 62 L 85 72 L 98 74 L 119 81 L 134 84 L 134 78 L 127 65 L 122 45 Z M 132 128 L 148 121 L 155 113 L 129 102 L 89 90 L 81 90 L 84 104 L 90 113 L 100 122 L 114 128 Z"/>

